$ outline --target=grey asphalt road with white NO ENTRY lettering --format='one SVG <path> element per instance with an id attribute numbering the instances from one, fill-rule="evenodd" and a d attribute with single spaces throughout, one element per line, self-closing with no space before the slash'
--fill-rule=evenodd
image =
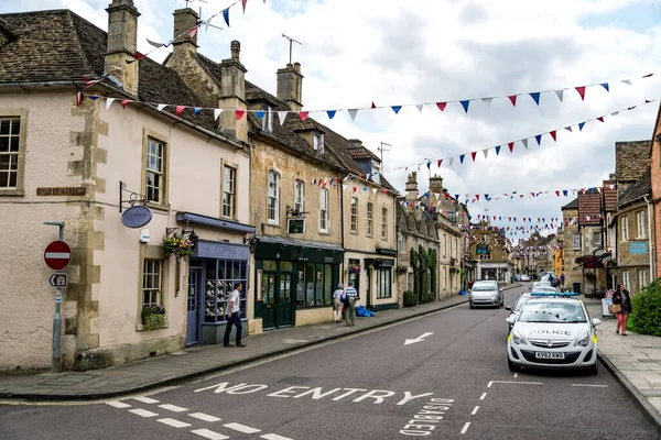
<path id="1" fill-rule="evenodd" d="M 660 438 L 604 367 L 510 373 L 506 317 L 464 305 L 138 398 L 0 406 L 0 439 Z"/>

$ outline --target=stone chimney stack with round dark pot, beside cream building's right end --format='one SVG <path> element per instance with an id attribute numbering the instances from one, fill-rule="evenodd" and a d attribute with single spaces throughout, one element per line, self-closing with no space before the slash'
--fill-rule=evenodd
<path id="1" fill-rule="evenodd" d="M 248 118 L 237 121 L 234 109 L 246 110 L 246 67 L 241 64 L 241 43 L 232 41 L 230 44 L 231 57 L 220 62 L 221 85 L 218 107 L 232 109 L 220 114 L 220 128 L 226 136 L 238 141 L 248 142 Z"/>

